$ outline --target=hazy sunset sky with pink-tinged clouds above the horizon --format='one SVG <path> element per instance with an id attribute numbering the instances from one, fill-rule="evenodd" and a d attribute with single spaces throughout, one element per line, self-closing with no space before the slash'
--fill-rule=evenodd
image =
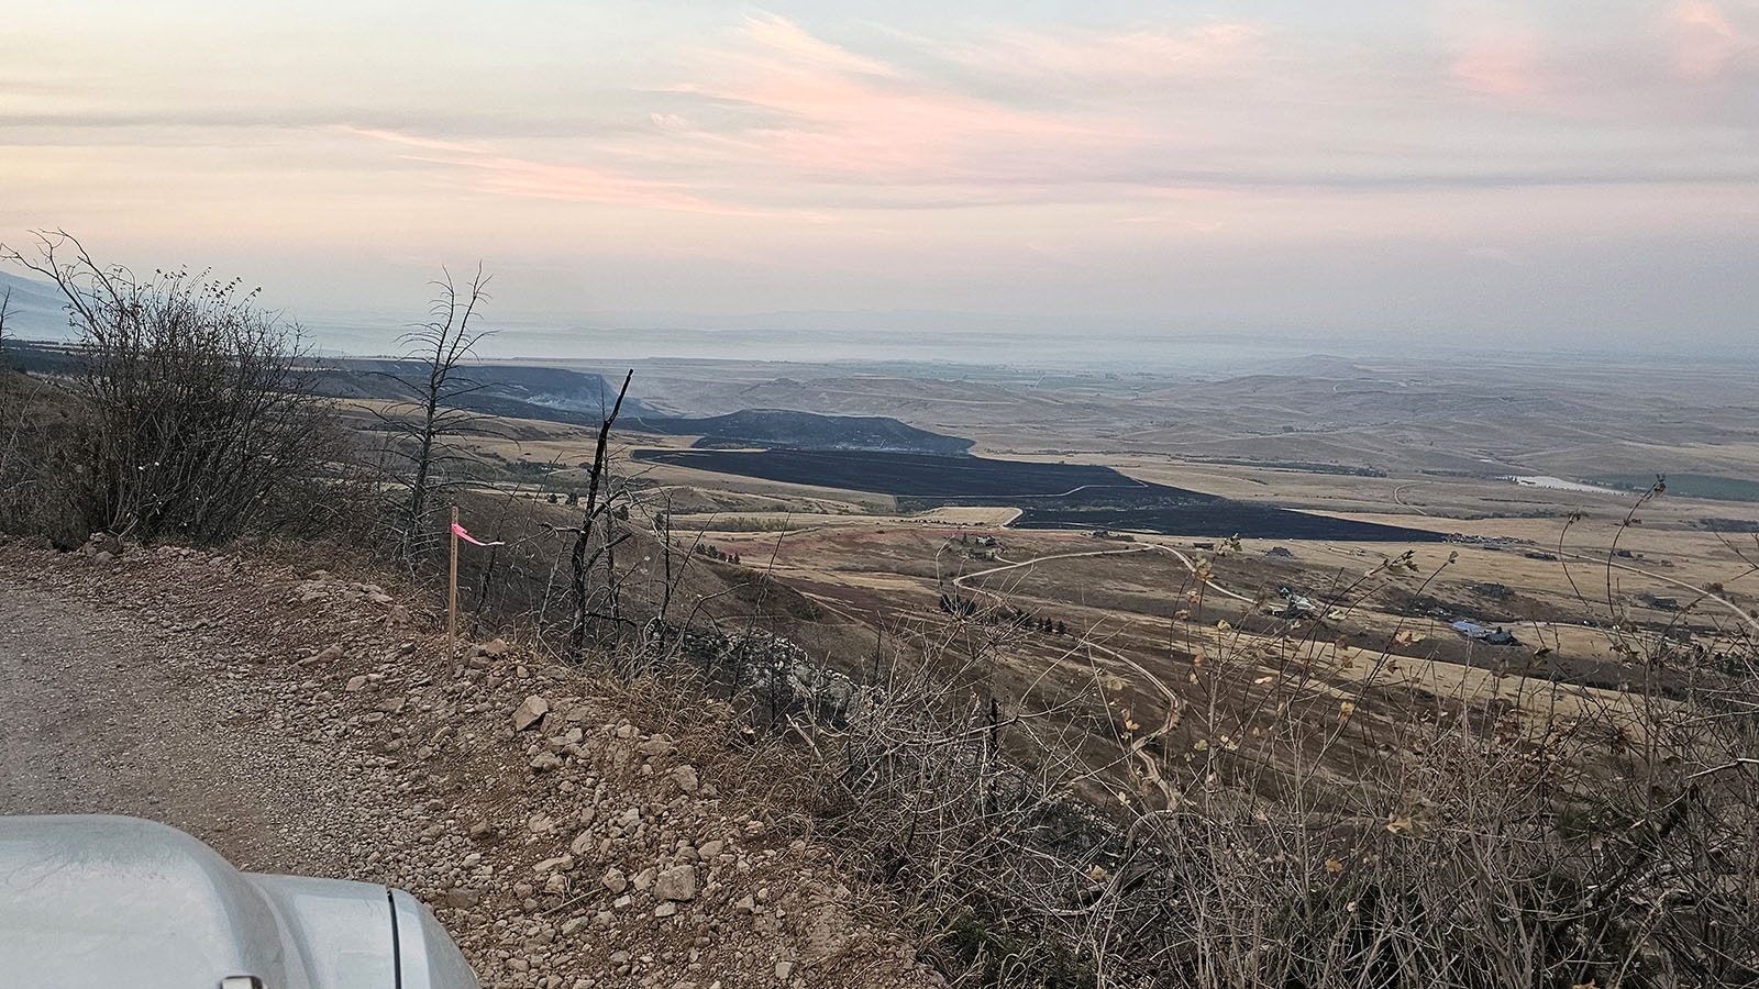
<path id="1" fill-rule="evenodd" d="M 308 324 L 482 262 L 563 348 L 1750 348 L 1759 0 L 7 4 L 0 241 L 44 227 Z"/>

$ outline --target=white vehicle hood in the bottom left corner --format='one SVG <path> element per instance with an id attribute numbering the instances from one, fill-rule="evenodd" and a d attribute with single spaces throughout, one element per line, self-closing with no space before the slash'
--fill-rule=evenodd
<path id="1" fill-rule="evenodd" d="M 478 985 L 403 890 L 239 873 L 188 834 L 137 818 L 0 817 L 0 985 L 232 989 L 252 978 L 264 989 Z"/>

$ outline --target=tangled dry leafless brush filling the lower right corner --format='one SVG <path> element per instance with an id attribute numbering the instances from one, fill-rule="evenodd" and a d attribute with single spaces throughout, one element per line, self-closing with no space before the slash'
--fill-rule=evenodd
<path id="1" fill-rule="evenodd" d="M 1061 711 L 983 697 L 982 655 L 931 635 L 790 729 L 823 827 L 973 985 L 1759 980 L 1750 678 L 1662 690 L 1678 651 L 1622 628 L 1627 690 L 1485 672 L 1449 692 L 1323 628 L 1224 637 L 1177 686 L 1138 665 L 1164 707 L 1135 714 L 1098 679 Z M 1094 702 L 1115 758 L 1059 727 Z"/>

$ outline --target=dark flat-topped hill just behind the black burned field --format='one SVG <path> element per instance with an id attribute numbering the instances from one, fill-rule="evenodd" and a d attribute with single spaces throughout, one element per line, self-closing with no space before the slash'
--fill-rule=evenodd
<path id="1" fill-rule="evenodd" d="M 874 451 L 959 456 L 971 440 L 906 426 L 885 415 L 818 415 L 783 408 L 746 408 L 705 419 L 630 419 L 633 429 L 702 436 L 698 447 L 770 447 L 800 451 Z"/>

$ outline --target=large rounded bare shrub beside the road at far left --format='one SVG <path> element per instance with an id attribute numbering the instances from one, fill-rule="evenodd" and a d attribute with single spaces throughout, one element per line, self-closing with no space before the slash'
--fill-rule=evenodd
<path id="1" fill-rule="evenodd" d="M 81 338 L 81 412 L 40 472 L 74 528 L 215 544 L 308 516 L 336 433 L 306 391 L 297 327 L 237 282 L 139 278 L 65 232 L 0 257 L 53 280 Z"/>

